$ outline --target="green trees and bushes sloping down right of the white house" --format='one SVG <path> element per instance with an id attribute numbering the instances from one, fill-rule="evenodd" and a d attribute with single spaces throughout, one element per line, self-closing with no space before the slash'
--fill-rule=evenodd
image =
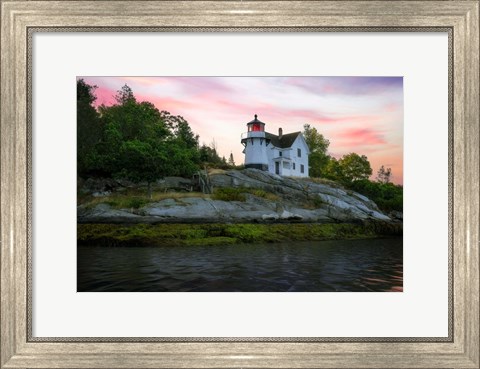
<path id="1" fill-rule="evenodd" d="M 310 149 L 309 174 L 311 177 L 327 178 L 343 184 L 373 200 L 384 211 L 403 211 L 403 187 L 391 183 L 392 170 L 383 165 L 375 181 L 365 155 L 350 153 L 340 159 L 328 154 L 330 141 L 309 124 L 304 125 L 303 135 Z"/>

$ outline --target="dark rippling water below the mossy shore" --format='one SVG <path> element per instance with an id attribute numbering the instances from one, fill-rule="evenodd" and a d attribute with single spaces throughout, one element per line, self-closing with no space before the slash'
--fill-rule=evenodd
<path id="1" fill-rule="evenodd" d="M 402 291 L 403 240 L 78 247 L 84 291 Z"/>

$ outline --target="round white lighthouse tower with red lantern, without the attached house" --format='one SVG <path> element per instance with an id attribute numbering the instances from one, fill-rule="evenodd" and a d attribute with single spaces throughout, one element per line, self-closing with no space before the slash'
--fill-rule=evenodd
<path id="1" fill-rule="evenodd" d="M 268 171 L 267 146 L 270 140 L 265 138 L 265 123 L 255 119 L 247 123 L 248 131 L 242 134 L 242 144 L 245 147 L 245 168 L 255 168 Z"/>

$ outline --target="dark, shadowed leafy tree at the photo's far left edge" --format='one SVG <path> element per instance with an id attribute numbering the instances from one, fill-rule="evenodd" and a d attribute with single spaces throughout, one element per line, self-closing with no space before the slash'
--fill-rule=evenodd
<path id="1" fill-rule="evenodd" d="M 94 160 L 95 146 L 101 141 L 103 125 L 94 102 L 97 86 L 77 80 L 77 170 L 79 175 L 88 172 Z"/>

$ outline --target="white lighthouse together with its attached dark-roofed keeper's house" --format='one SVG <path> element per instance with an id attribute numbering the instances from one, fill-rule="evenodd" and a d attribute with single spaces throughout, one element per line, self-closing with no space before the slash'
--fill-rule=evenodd
<path id="1" fill-rule="evenodd" d="M 242 134 L 245 168 L 256 168 L 281 176 L 308 177 L 308 149 L 302 132 L 278 135 L 265 132 L 265 123 L 255 119 Z"/>

